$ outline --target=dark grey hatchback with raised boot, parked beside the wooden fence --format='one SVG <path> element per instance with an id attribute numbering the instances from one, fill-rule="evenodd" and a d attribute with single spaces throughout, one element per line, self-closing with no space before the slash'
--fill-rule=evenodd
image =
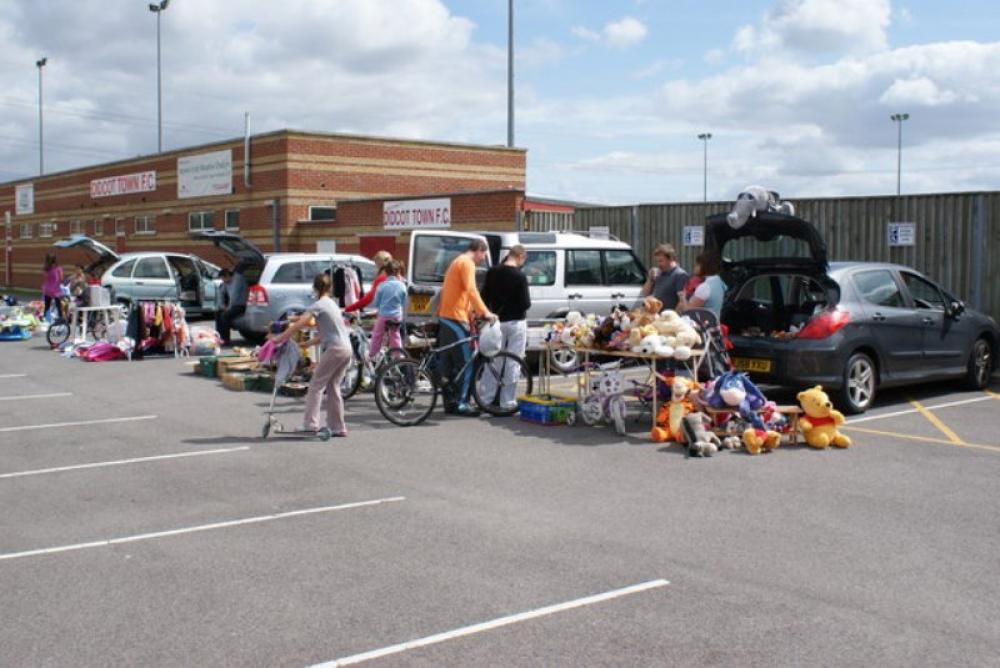
<path id="1" fill-rule="evenodd" d="M 846 413 L 867 410 L 880 387 L 961 378 L 989 384 L 994 320 L 908 267 L 827 262 L 816 228 L 765 213 L 734 229 L 709 217 L 728 286 L 721 320 L 737 369 L 755 381 L 823 385 Z"/>

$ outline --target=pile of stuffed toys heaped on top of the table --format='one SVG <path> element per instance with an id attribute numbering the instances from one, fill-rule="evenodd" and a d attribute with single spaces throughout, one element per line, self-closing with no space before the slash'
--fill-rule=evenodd
<path id="1" fill-rule="evenodd" d="M 606 317 L 570 311 L 565 320 L 546 326 L 545 340 L 594 350 L 629 351 L 663 359 L 686 361 L 701 343 L 698 328 L 663 303 L 646 297 L 630 311 L 616 308 Z"/>

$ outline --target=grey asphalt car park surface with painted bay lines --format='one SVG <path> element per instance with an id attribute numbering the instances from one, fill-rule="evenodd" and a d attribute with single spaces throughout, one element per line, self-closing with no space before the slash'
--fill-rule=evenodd
<path id="1" fill-rule="evenodd" d="M 268 395 L 182 361 L 2 345 L 4 665 L 1000 655 L 1000 382 L 887 392 L 846 451 L 686 459 L 370 396 L 347 439 L 262 441 Z"/>

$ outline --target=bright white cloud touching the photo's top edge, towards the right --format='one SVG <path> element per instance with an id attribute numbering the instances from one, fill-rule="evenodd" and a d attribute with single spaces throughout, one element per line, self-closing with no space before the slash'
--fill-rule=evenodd
<path id="1" fill-rule="evenodd" d="M 780 0 L 760 25 L 737 31 L 733 48 L 754 55 L 883 51 L 890 16 L 889 0 Z"/>

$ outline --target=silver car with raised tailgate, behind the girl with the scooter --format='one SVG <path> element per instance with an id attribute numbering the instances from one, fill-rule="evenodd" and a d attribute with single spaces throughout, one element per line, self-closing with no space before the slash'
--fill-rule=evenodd
<path id="1" fill-rule="evenodd" d="M 274 253 L 265 255 L 238 234 L 222 231 L 196 232 L 196 239 L 214 243 L 243 271 L 249 284 L 246 313 L 234 324 L 240 335 L 260 343 L 268 326 L 292 313 L 301 313 L 314 300 L 312 282 L 316 274 L 336 265 L 357 267 L 361 285 L 367 292 L 378 271 L 375 263 L 360 255 L 339 253 Z"/>

